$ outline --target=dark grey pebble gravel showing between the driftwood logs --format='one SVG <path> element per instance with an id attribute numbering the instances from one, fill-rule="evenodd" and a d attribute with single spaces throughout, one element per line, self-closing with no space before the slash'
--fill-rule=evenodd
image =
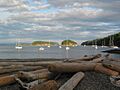
<path id="1" fill-rule="evenodd" d="M 63 73 L 57 79 L 60 85 L 64 84 L 73 73 Z M 1 87 L 0 90 L 20 90 L 17 84 Z M 21 89 L 22 90 L 22 89 Z M 75 87 L 74 90 L 120 90 L 111 84 L 109 76 L 97 72 L 85 72 L 83 80 Z"/>

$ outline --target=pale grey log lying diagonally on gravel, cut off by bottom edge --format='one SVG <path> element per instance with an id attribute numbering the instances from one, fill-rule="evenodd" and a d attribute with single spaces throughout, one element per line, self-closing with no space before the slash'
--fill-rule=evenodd
<path id="1" fill-rule="evenodd" d="M 73 90 L 77 84 L 82 80 L 84 77 L 84 73 L 78 72 L 72 76 L 64 85 L 62 85 L 59 90 Z"/>

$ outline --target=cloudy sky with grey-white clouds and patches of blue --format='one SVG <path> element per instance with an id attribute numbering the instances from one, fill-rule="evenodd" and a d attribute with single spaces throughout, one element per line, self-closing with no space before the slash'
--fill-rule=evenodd
<path id="1" fill-rule="evenodd" d="M 0 0 L 0 43 L 81 43 L 120 32 L 120 0 Z"/>

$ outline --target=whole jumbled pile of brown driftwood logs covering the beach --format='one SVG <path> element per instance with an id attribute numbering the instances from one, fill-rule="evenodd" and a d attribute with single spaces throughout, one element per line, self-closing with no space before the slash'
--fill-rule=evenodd
<path id="1" fill-rule="evenodd" d="M 0 87 L 18 83 L 22 90 L 73 90 L 83 79 L 83 72 L 86 71 L 109 75 L 111 83 L 120 87 L 120 60 L 101 54 L 61 61 L 2 60 Z M 57 79 L 64 73 L 74 75 L 64 84 L 57 83 Z"/>

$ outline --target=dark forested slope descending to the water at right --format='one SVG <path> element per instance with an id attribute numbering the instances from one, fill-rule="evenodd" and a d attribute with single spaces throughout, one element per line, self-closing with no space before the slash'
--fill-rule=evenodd
<path id="1" fill-rule="evenodd" d="M 112 39 L 112 41 L 111 41 Z M 110 46 L 110 41 L 113 43 L 115 46 L 120 47 L 120 32 L 114 35 L 110 35 L 104 38 L 99 38 L 91 41 L 86 41 L 83 42 L 81 45 L 94 45 L 95 43 L 99 46 Z"/>

